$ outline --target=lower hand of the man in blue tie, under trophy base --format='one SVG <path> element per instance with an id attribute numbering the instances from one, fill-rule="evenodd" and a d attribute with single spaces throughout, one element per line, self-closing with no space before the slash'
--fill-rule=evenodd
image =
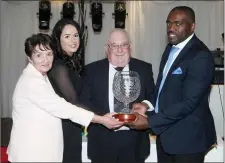
<path id="1" fill-rule="evenodd" d="M 134 112 L 133 114 L 136 115 L 136 120 L 132 123 L 127 124 L 128 127 L 136 130 L 145 130 L 149 128 L 146 116 L 140 115 L 137 112 Z"/>

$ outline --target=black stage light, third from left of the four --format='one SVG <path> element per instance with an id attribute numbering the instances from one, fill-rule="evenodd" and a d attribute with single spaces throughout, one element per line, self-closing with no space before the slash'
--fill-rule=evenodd
<path id="1" fill-rule="evenodd" d="M 102 29 L 102 16 L 104 13 L 102 12 L 102 3 L 93 2 L 91 4 L 91 12 L 92 16 L 92 28 L 94 32 L 101 32 Z"/>

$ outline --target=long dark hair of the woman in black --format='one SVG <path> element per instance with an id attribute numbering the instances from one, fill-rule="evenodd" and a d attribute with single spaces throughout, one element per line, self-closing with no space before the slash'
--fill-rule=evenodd
<path id="1" fill-rule="evenodd" d="M 66 52 L 62 49 L 62 46 L 60 44 L 60 36 L 62 34 L 62 30 L 66 25 L 72 25 L 74 26 L 79 34 L 80 37 L 80 46 L 78 47 L 77 51 L 73 54 L 72 57 L 68 56 Z M 52 40 L 54 44 L 56 45 L 55 48 L 55 59 L 61 59 L 63 60 L 70 68 L 76 69 L 78 72 L 81 70 L 81 63 L 80 63 L 80 56 L 82 54 L 82 36 L 81 36 L 81 30 L 80 25 L 71 19 L 60 19 L 54 26 L 52 31 Z"/>

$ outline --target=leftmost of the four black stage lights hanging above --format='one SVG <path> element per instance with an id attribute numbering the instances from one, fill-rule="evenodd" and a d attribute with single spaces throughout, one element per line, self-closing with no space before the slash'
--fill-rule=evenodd
<path id="1" fill-rule="evenodd" d="M 49 30 L 50 17 L 51 13 L 51 2 L 48 0 L 39 1 L 39 29 L 40 30 Z"/>

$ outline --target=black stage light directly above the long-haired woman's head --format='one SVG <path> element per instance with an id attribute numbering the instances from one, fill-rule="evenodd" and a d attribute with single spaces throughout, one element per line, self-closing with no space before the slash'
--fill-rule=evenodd
<path id="1" fill-rule="evenodd" d="M 63 4 L 63 9 L 61 12 L 61 16 L 65 19 L 72 19 L 74 18 L 75 15 L 75 7 L 74 7 L 74 3 L 72 2 L 65 2 Z"/>

